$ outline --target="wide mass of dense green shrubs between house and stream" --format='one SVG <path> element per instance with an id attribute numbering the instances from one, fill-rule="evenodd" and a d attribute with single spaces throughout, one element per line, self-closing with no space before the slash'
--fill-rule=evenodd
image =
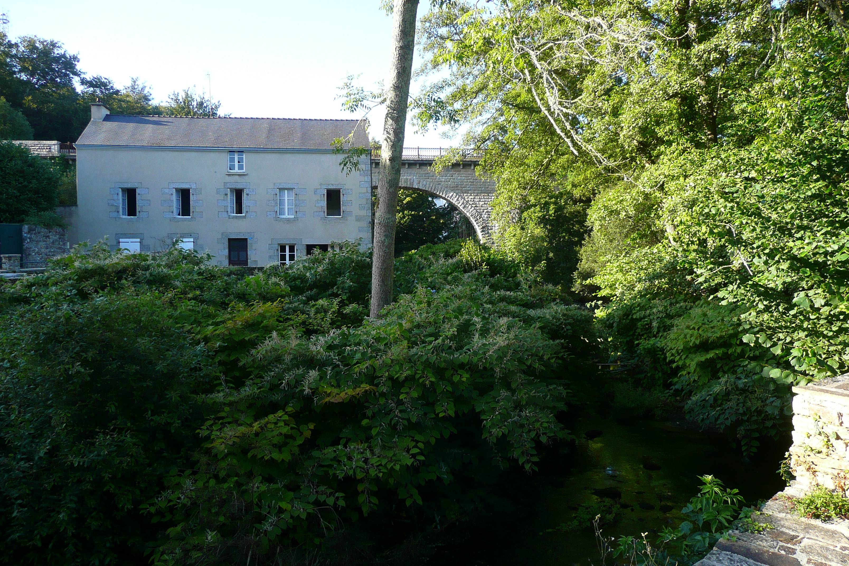
<path id="1" fill-rule="evenodd" d="M 250 274 L 101 243 L 0 282 L 0 552 L 271 562 L 533 469 L 569 437 L 592 312 L 441 245 L 399 258 L 409 291 L 379 321 L 354 245 Z"/>

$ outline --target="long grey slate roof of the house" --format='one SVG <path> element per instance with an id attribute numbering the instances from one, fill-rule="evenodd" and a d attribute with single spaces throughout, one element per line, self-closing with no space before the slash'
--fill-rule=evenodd
<path id="1" fill-rule="evenodd" d="M 330 149 L 336 137 L 351 135 L 356 125 L 357 120 L 110 114 L 103 121 L 90 121 L 76 145 Z M 362 125 L 357 128 L 354 141 L 357 146 L 368 146 Z"/>

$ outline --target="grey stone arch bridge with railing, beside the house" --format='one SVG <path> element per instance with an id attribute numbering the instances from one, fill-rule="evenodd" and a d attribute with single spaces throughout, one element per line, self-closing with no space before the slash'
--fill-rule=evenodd
<path id="1" fill-rule="evenodd" d="M 492 242 L 490 216 L 496 182 L 477 176 L 475 169 L 482 154 L 464 151 L 462 160 L 436 175 L 430 165 L 445 151 L 441 148 L 404 148 L 400 188 L 423 191 L 447 200 L 469 219 L 481 242 Z M 372 190 L 377 189 L 379 173 L 380 149 L 376 149 L 371 159 Z"/>

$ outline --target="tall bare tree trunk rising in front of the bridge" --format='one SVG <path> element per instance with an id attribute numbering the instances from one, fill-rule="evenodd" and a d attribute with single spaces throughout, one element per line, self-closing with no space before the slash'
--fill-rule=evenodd
<path id="1" fill-rule="evenodd" d="M 392 79 L 386 97 L 383 145 L 380 149 L 380 177 L 377 210 L 374 213 L 374 263 L 372 264 L 371 316 L 392 302 L 395 288 L 395 223 L 398 206 L 398 182 L 401 181 L 401 155 L 410 76 L 413 73 L 413 48 L 416 38 L 416 11 L 419 0 L 395 0 L 392 16 Z"/>

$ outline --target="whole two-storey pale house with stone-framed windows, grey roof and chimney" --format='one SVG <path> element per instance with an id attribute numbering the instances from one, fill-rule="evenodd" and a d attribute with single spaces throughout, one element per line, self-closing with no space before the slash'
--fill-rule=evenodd
<path id="1" fill-rule="evenodd" d="M 92 104 L 76 142 L 77 239 L 177 244 L 213 263 L 289 263 L 334 242 L 371 245 L 371 165 L 350 176 L 335 138 L 357 120 L 112 115 Z M 354 143 L 368 145 L 362 126 Z"/>

